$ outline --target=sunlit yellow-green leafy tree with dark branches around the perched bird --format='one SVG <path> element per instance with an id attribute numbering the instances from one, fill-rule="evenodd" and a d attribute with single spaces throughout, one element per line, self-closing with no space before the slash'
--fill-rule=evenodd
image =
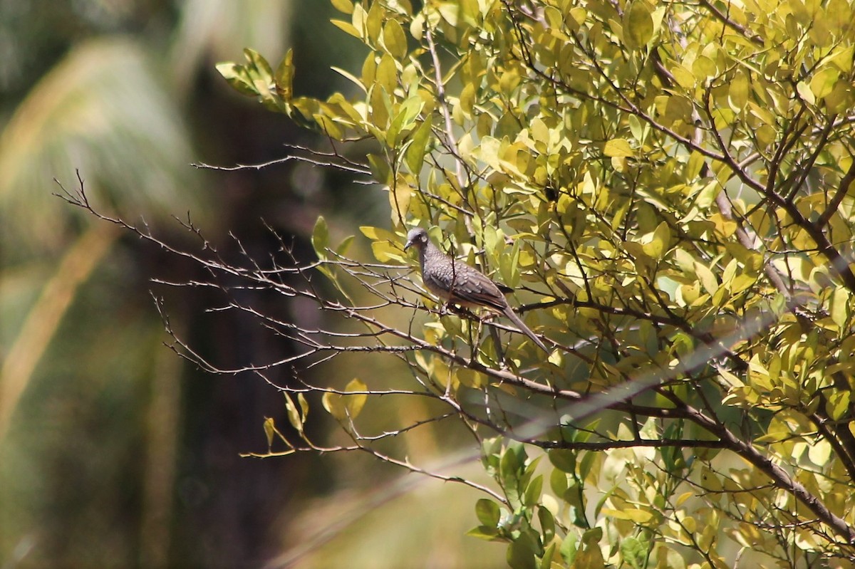
<path id="1" fill-rule="evenodd" d="M 388 192 L 391 227 L 363 228 L 378 263 L 316 227 L 344 300 L 312 298 L 483 442 L 502 496 L 474 533 L 516 567 L 730 566 L 723 535 L 764 562 L 851 565 L 852 3 L 333 5 L 368 50 L 338 70 L 354 93 L 297 97 L 290 54 L 219 69 Z M 364 164 L 338 151 L 357 140 Z M 523 290 L 548 359 L 395 274 L 416 225 Z M 423 336 L 373 315 L 391 305 Z"/>

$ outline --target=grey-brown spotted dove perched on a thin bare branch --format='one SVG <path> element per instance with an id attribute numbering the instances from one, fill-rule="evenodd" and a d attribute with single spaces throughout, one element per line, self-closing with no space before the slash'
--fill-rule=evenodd
<path id="1" fill-rule="evenodd" d="M 469 267 L 462 261 L 445 255 L 428 237 L 422 227 L 411 229 L 407 233 L 404 250 L 415 247 L 419 252 L 419 264 L 422 267 L 422 281 L 434 295 L 445 302 L 452 302 L 463 308 L 487 308 L 498 314 L 504 314 L 523 334 L 530 337 L 538 348 L 549 353 L 549 349 L 534 335 L 504 297 L 502 289 L 475 267 Z"/>

